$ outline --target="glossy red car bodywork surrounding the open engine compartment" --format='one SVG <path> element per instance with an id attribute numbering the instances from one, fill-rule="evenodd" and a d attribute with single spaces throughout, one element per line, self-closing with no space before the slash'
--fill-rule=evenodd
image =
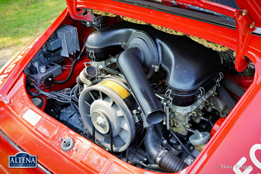
<path id="1" fill-rule="evenodd" d="M 203 7 L 236 19 L 237 30 L 216 26 L 210 23 L 175 16 L 157 10 L 138 7 L 127 3 L 104 0 L 70 1 L 55 22 L 38 38 L 29 43 L 1 69 L 0 94 L 0 130 L 23 151 L 38 156 L 38 163 L 52 173 L 152 173 L 127 164 L 84 137 L 67 128 L 54 118 L 34 106 L 25 88 L 26 75 L 22 72 L 43 43 L 62 22 L 69 18 L 81 20 L 81 11 L 77 8 L 101 10 L 116 15 L 123 15 L 147 23 L 180 31 L 189 35 L 212 41 L 237 50 L 236 68 L 245 69 L 249 60 L 255 65 L 256 73 L 251 86 L 236 104 L 228 117 L 211 137 L 197 159 L 180 173 L 240 173 L 233 166 L 252 166 L 245 173 L 261 172 L 261 134 L 260 134 L 260 99 L 261 99 L 261 37 L 251 34 L 255 26 L 261 26 L 261 3 L 258 1 L 237 1 L 242 11 L 209 1 L 180 0 L 180 2 Z M 251 19 L 251 20 L 250 20 Z M 251 23 L 250 23 L 251 22 Z M 68 74 L 63 74 L 66 77 Z M 73 74 L 77 76 L 77 74 Z M 61 77 L 62 78 L 62 77 Z M 60 86 L 61 87 L 61 86 Z M 4 101 L 4 98 L 9 100 Z M 22 115 L 31 109 L 41 116 L 40 121 L 32 126 Z M 58 139 L 73 137 L 76 151 L 61 150 Z M 1 173 L 44 173 L 43 168 L 17 169 L 8 168 L 8 155 L 18 150 L 1 134 Z M 224 169 L 223 166 L 228 166 Z M 243 172 L 243 169 L 240 169 Z"/>

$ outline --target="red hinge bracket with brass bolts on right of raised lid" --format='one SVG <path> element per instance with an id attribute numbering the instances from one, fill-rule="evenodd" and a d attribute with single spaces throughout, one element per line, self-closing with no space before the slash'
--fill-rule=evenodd
<path id="1" fill-rule="evenodd" d="M 255 30 L 255 26 L 245 9 L 237 10 L 235 12 L 235 19 L 237 32 L 235 69 L 238 72 L 242 72 L 250 62 L 250 59 L 244 57 L 244 55 L 251 33 Z"/>

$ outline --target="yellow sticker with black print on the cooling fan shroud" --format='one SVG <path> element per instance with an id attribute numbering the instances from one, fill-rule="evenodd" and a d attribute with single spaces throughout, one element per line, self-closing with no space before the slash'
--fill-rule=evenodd
<path id="1" fill-rule="evenodd" d="M 131 95 L 123 86 L 121 86 L 120 84 L 118 84 L 114 81 L 104 80 L 104 81 L 98 83 L 97 85 L 104 85 L 104 86 L 111 88 L 118 95 L 120 95 L 122 99 L 125 99 L 126 97 Z"/>

